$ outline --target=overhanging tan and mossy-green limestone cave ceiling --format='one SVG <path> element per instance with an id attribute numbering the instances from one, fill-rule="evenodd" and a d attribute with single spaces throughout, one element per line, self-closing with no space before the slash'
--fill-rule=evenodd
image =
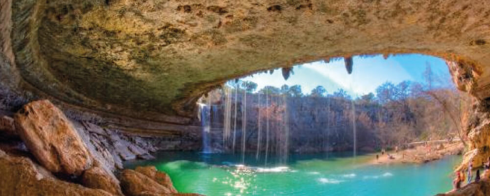
<path id="1" fill-rule="evenodd" d="M 20 86 L 97 111 L 173 121 L 227 79 L 377 53 L 456 61 L 490 97 L 488 0 L 2 2 Z"/>

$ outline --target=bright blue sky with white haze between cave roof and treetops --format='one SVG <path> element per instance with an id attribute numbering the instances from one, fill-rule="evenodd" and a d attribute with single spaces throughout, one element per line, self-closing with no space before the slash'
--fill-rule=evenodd
<path id="1" fill-rule="evenodd" d="M 361 58 L 355 56 L 352 74 L 347 74 L 344 61 L 331 61 L 329 63 L 318 61 L 294 66 L 294 74 L 284 80 L 281 70 L 273 74 L 257 73 L 242 78 L 258 84 L 257 90 L 264 86 L 281 87 L 299 84 L 303 93 L 309 94 L 318 85 L 325 87 L 329 94 L 339 88 L 346 90 L 351 96 L 358 97 L 374 92 L 376 87 L 390 81 L 398 84 L 404 80 L 424 83 L 423 72 L 429 64 L 441 80 L 444 87 L 451 88 L 449 70 L 441 58 L 421 55 L 402 54 L 384 59 L 382 55 Z"/>

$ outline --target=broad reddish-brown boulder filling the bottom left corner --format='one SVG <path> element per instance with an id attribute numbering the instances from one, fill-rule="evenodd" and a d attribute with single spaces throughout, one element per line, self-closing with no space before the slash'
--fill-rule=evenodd
<path id="1" fill-rule="evenodd" d="M 13 157 L 0 150 L 0 196 L 112 196 L 54 178 L 25 157 Z"/>

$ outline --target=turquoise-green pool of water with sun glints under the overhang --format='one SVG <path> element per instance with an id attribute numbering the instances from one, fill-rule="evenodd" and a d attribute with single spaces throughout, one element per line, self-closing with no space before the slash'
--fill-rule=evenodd
<path id="1" fill-rule="evenodd" d="M 372 155 L 291 155 L 286 164 L 265 166 L 253 155 L 160 152 L 152 161 L 167 172 L 179 192 L 207 196 L 431 196 L 451 189 L 460 156 L 424 165 L 372 166 Z"/>

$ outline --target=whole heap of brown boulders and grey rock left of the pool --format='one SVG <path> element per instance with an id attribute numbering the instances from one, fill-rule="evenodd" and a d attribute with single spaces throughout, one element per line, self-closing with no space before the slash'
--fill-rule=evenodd
<path id="1" fill-rule="evenodd" d="M 197 196 L 178 194 L 154 167 L 114 174 L 122 160 L 152 158 L 155 147 L 141 138 L 87 122 L 73 125 L 49 100 L 30 102 L 14 116 L 0 123 L 0 134 L 21 139 L 14 146 L 14 139 L 0 141 L 2 196 Z"/>

